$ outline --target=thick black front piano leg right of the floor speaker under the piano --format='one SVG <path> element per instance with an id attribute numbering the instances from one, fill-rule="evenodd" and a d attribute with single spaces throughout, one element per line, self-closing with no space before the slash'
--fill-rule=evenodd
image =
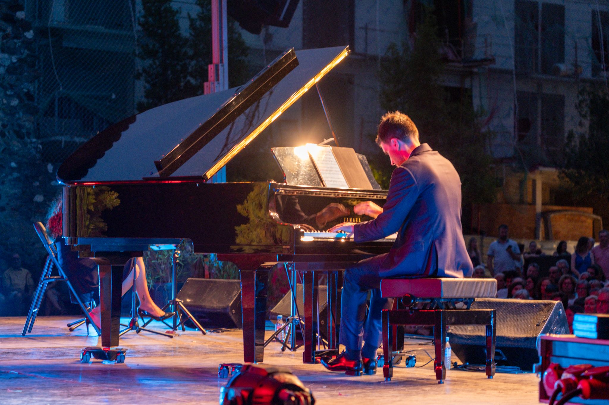
<path id="1" fill-rule="evenodd" d="M 264 326 L 269 270 L 274 264 L 263 264 L 256 270 L 239 270 L 243 321 L 243 356 L 245 362 L 264 360 Z"/>

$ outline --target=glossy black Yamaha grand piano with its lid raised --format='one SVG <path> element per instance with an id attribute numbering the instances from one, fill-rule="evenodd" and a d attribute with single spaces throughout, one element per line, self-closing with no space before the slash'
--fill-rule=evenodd
<path id="1" fill-rule="evenodd" d="M 328 346 L 336 347 L 340 271 L 389 251 L 391 239 L 355 244 L 309 232 L 301 217 L 329 203 L 350 207 L 387 192 L 358 155 L 365 188 L 329 187 L 294 148 L 276 148 L 280 182 L 212 182 L 214 175 L 349 53 L 348 47 L 287 50 L 244 86 L 188 98 L 127 118 L 95 135 L 58 169 L 63 185 L 63 236 L 81 257 L 99 265 L 101 340 L 119 344 L 122 267 L 157 245 L 186 239 L 196 253 L 216 253 L 239 267 L 244 360 L 264 356 L 266 291 L 270 268 L 289 263 L 305 284 L 305 362 L 314 362 L 319 274 L 328 273 Z M 281 179 L 280 179 L 281 180 Z M 365 182 L 364 182 L 365 183 Z M 369 185 L 369 186 L 368 186 Z M 328 229 L 337 218 L 326 223 Z"/>

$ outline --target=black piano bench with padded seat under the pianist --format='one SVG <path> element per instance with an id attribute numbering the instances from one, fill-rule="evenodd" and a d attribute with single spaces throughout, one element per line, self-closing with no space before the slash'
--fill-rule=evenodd
<path id="1" fill-rule="evenodd" d="M 398 344 L 398 325 L 429 325 L 434 327 L 435 378 L 442 384 L 446 378 L 444 353 L 446 327 L 449 325 L 485 325 L 487 345 L 487 378 L 495 375 L 495 310 L 470 309 L 476 298 L 495 298 L 495 279 L 384 279 L 381 296 L 400 298 L 393 308 L 382 311 L 382 345 L 385 381 L 393 376 L 393 345 Z M 460 308 L 457 305 L 462 303 Z M 398 308 L 400 307 L 400 308 Z M 399 344 L 398 344 L 399 345 Z"/>

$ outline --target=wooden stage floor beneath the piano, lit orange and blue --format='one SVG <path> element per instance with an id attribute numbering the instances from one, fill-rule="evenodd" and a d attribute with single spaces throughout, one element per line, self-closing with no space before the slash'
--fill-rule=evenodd
<path id="1" fill-rule="evenodd" d="M 0 318 L 0 404 L 217 404 L 227 379 L 217 376 L 220 362 L 243 362 L 241 331 L 209 333 L 189 330 L 168 339 L 129 332 L 124 364 L 79 361 L 80 349 L 97 345 L 84 327 L 70 333 L 66 317 L 40 317 L 32 333 L 21 336 L 25 318 Z M 163 331 L 160 322 L 152 328 Z M 267 334 L 270 332 L 267 332 Z M 408 349 L 431 345 L 408 345 Z M 302 364 L 302 351 L 281 352 L 272 343 L 265 364 L 292 370 L 312 390 L 317 404 L 537 404 L 535 374 L 449 370 L 438 385 L 432 364 L 397 367 L 385 383 L 382 370 L 373 376 L 348 377 L 321 364 Z M 429 358 L 417 353 L 418 365 Z M 453 357 L 453 361 L 457 361 Z"/>

